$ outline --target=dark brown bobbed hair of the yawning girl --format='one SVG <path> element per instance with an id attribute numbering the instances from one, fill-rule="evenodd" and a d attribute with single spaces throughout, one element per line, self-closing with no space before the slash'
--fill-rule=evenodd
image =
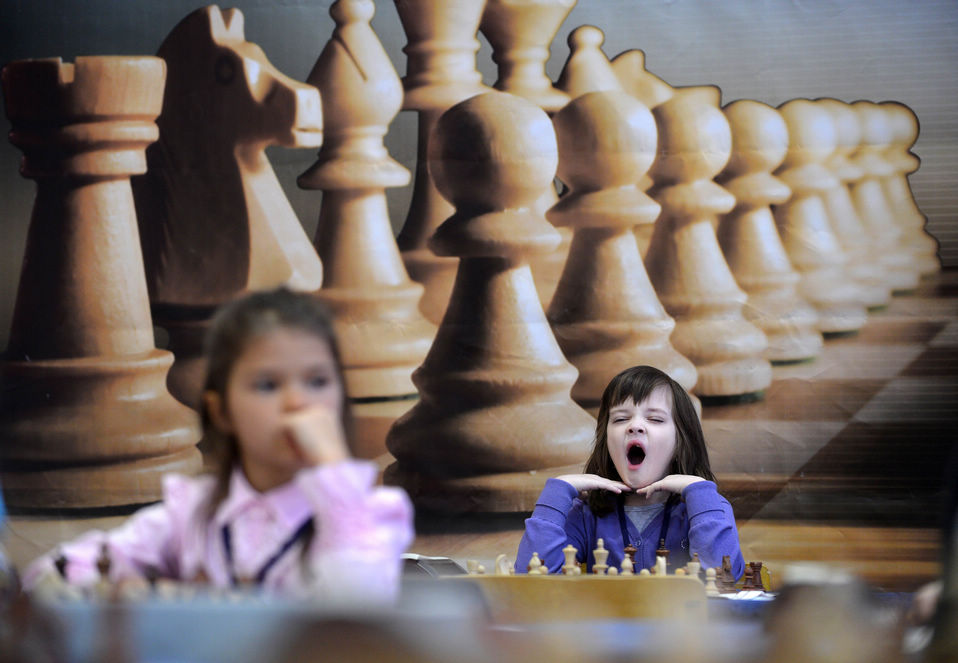
<path id="1" fill-rule="evenodd" d="M 692 474 L 715 481 L 709 464 L 708 449 L 702 423 L 695 411 L 688 392 L 678 382 L 652 366 L 633 366 L 616 375 L 602 393 L 599 413 L 596 417 L 595 439 L 592 453 L 585 463 L 586 474 L 597 474 L 613 481 L 622 481 L 619 471 L 609 455 L 609 412 L 612 408 L 632 399 L 641 403 L 659 387 L 665 387 L 672 394 L 672 419 L 675 422 L 675 455 L 669 465 L 669 474 Z M 588 504 L 592 512 L 602 516 L 615 508 L 616 495 L 605 490 L 593 490 L 589 493 Z M 672 502 L 678 495 L 669 498 Z"/>

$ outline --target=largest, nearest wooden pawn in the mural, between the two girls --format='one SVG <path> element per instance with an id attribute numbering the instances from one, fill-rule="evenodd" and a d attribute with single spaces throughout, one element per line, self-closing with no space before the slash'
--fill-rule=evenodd
<path id="1" fill-rule="evenodd" d="M 588 453 L 595 420 L 570 396 L 576 370 L 528 263 L 559 241 L 531 207 L 556 162 L 548 116 L 502 92 L 456 104 L 430 138 L 436 186 L 456 209 L 430 246 L 458 256 L 459 267 L 413 374 L 420 401 L 386 438 L 397 462 L 385 475 L 427 510 L 530 510 L 544 477 Z"/>

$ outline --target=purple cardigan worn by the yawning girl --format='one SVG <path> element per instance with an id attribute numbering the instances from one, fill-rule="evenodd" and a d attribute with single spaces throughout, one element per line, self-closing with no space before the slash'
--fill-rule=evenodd
<path id="1" fill-rule="evenodd" d="M 572 544 L 579 551 L 576 559 L 586 562 L 591 571 L 595 562 L 592 554 L 598 539 L 603 539 L 609 551 L 609 566 L 622 564 L 623 549 L 631 543 L 636 548 L 636 571 L 655 565 L 655 550 L 659 546 L 664 512 L 659 513 L 639 532 L 628 518 L 620 518 L 614 509 L 605 516 L 594 516 L 575 488 L 561 479 L 548 479 L 536 501 L 532 516 L 526 519 L 526 531 L 516 555 L 516 572 L 525 573 L 532 553 L 557 573 L 565 563 L 562 549 Z M 622 522 L 629 541 L 622 541 Z M 669 549 L 669 568 L 685 566 L 692 553 L 699 554 L 702 568 L 722 565 L 722 556 L 728 555 L 732 572 L 740 578 L 745 561 L 739 549 L 738 531 L 732 505 L 719 495 L 711 481 L 698 481 L 682 492 L 682 501 L 671 507 L 666 535 Z"/>

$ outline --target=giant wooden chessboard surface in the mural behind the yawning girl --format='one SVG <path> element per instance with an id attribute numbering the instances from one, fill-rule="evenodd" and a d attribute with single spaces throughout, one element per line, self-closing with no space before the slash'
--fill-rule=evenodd
<path id="1" fill-rule="evenodd" d="M 784 566 L 820 561 L 909 591 L 940 570 L 940 526 L 956 480 L 958 272 L 944 271 L 826 340 L 814 361 L 777 365 L 764 399 L 703 404 L 719 488 L 746 560 L 773 587 Z M 420 514 L 416 552 L 514 555 L 522 518 Z"/>

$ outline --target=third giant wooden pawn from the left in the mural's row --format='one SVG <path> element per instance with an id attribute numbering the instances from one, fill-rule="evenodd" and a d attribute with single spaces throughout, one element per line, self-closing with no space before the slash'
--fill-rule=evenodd
<path id="1" fill-rule="evenodd" d="M 675 318 L 672 345 L 695 364 L 702 398 L 754 398 L 772 382 L 765 334 L 742 315 L 746 294 L 722 255 L 715 225 L 735 198 L 712 181 L 731 156 L 732 135 L 712 87 L 676 89 L 652 110 L 658 154 L 652 197 L 662 205 L 645 266 Z"/>

